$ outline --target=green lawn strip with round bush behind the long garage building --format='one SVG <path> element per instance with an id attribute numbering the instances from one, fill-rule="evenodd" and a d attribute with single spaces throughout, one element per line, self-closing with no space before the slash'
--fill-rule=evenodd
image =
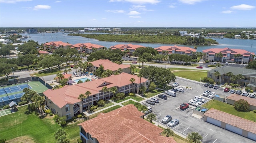
<path id="1" fill-rule="evenodd" d="M 226 112 L 228 114 L 232 114 L 234 116 L 238 116 L 244 119 L 248 119 L 250 121 L 254 121 L 256 118 L 256 113 L 253 113 L 252 111 L 250 112 L 238 112 L 235 110 L 233 105 L 226 104 L 217 100 L 211 100 L 210 102 L 207 102 L 206 104 L 203 105 L 205 108 L 214 108 L 216 110 L 220 110 L 222 112 Z"/>

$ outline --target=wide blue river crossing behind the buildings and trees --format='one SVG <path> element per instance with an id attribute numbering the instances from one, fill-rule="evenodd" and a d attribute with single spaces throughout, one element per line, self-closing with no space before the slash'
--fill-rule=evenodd
<path id="1" fill-rule="evenodd" d="M 85 34 L 91 34 L 91 33 L 85 33 Z M 94 33 L 94 34 L 105 34 L 105 33 Z M 68 42 L 70 44 L 77 44 L 77 43 L 92 43 L 101 45 L 104 47 L 111 47 L 117 44 L 129 44 L 124 42 L 107 42 L 107 41 L 98 41 L 97 39 L 91 39 L 91 38 L 85 38 L 81 36 L 68 36 L 68 33 L 35 33 L 35 34 L 20 34 L 22 36 L 29 35 L 30 38 L 26 39 L 25 41 L 28 41 L 30 39 L 34 41 L 38 41 L 38 43 L 46 43 L 51 41 L 62 41 L 62 42 Z M 197 51 L 202 52 L 204 49 L 210 49 L 210 48 L 225 48 L 228 47 L 230 49 L 244 49 L 249 52 L 256 53 L 256 40 L 251 39 L 229 39 L 229 38 L 223 38 L 223 39 L 216 39 L 219 44 L 218 45 L 208 45 L 208 46 L 197 46 Z M 153 43 L 132 43 L 134 45 L 142 45 L 145 47 L 160 47 L 160 46 L 168 46 L 168 44 L 153 44 Z M 169 44 L 173 45 L 173 44 Z M 178 46 L 184 46 L 184 47 L 191 47 L 194 48 L 194 45 L 178 45 Z"/>

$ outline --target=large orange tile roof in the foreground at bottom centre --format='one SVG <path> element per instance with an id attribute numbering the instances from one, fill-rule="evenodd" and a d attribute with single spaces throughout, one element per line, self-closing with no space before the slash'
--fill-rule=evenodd
<path id="1" fill-rule="evenodd" d="M 163 129 L 140 118 L 143 115 L 130 104 L 78 125 L 100 143 L 176 143 L 160 135 Z"/>

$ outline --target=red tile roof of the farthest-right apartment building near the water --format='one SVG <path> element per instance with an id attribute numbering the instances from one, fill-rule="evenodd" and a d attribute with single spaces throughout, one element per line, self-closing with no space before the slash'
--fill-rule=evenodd
<path id="1" fill-rule="evenodd" d="M 244 49 L 230 49 L 230 48 L 211 48 L 211 49 L 205 49 L 203 50 L 203 53 L 231 53 L 232 55 L 237 55 L 237 54 L 241 54 L 241 55 L 255 55 L 252 52 L 248 52 Z"/>

